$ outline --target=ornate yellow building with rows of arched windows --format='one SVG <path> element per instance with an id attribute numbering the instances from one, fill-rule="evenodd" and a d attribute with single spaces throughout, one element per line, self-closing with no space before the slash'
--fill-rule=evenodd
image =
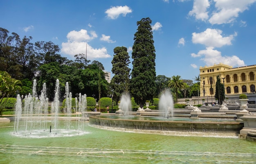
<path id="1" fill-rule="evenodd" d="M 214 96 L 217 75 L 224 83 L 225 95 L 254 94 L 256 65 L 232 68 L 226 64 L 200 67 L 200 97 Z M 210 88 L 213 90 L 210 90 Z"/>

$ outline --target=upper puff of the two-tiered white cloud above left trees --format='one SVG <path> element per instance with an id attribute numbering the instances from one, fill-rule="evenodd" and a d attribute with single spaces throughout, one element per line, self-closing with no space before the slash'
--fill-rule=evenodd
<path id="1" fill-rule="evenodd" d="M 70 31 L 67 34 L 67 39 L 69 41 L 90 41 L 97 37 L 95 31 L 90 31 L 90 35 L 88 34 L 87 30 L 81 29 L 80 31 Z"/>

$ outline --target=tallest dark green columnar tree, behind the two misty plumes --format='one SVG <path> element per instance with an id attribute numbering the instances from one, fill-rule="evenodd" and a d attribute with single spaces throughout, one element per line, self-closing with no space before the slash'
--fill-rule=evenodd
<path id="1" fill-rule="evenodd" d="M 146 100 L 153 101 L 155 94 L 155 46 L 149 17 L 137 22 L 132 46 L 131 94 L 142 108 Z"/>

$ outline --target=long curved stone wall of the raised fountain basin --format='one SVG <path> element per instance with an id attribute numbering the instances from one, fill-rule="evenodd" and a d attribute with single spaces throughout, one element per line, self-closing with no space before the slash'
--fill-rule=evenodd
<path id="1" fill-rule="evenodd" d="M 130 119 L 115 119 L 115 118 L 101 118 L 100 116 L 90 116 L 90 125 L 96 125 L 97 127 L 106 127 L 111 129 L 122 128 L 124 131 L 134 131 L 134 130 L 146 130 L 146 131 L 176 131 L 176 132 L 192 132 L 192 133 L 211 133 L 213 136 L 238 136 L 240 130 L 243 128 L 243 122 L 236 122 L 231 120 L 198 120 L 191 119 L 190 121 L 168 121 L 168 120 L 130 120 Z M 175 135 L 172 133 L 171 135 Z M 193 134 L 189 134 L 193 135 Z M 195 134 L 195 136 L 198 136 Z"/>

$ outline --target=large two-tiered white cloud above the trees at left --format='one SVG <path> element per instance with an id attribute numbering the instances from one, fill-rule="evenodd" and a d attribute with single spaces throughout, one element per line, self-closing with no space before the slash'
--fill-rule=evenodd
<path id="1" fill-rule="evenodd" d="M 70 55 L 71 57 L 74 57 L 74 55 L 80 53 L 85 54 L 87 47 L 87 59 L 89 60 L 111 57 L 105 47 L 93 48 L 88 44 L 90 40 L 96 37 L 97 35 L 95 31 L 91 31 L 90 35 L 88 35 L 87 31 L 83 29 L 81 29 L 80 31 L 70 31 L 67 34 L 67 42 L 63 42 L 61 44 L 61 52 Z"/>

